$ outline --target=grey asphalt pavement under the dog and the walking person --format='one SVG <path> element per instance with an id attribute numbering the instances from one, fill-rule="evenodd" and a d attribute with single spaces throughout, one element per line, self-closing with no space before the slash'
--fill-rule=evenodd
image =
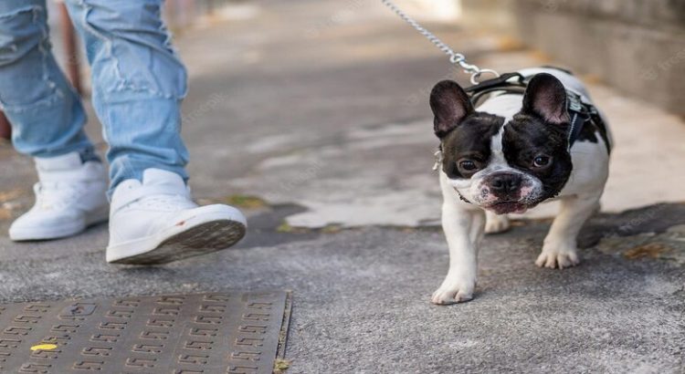
<path id="1" fill-rule="evenodd" d="M 457 22 L 427 25 L 474 62 L 540 53 Z M 13 244 L 32 162 L 0 146 L 0 301 L 291 289 L 289 373 L 685 371 L 685 123 L 585 77 L 612 122 L 605 213 L 583 263 L 533 265 L 551 208 L 486 237 L 476 298 L 433 306 L 447 272 L 427 93 L 466 83 L 376 2 L 239 3 L 184 31 L 184 139 L 201 203 L 234 203 L 236 249 L 158 267 L 104 262 L 106 225 Z M 97 120 L 88 130 L 100 140 Z M 673 187 L 677 186 L 677 187 Z"/>

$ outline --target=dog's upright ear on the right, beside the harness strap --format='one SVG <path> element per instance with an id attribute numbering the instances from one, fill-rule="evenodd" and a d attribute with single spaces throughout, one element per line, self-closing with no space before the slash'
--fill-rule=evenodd
<path id="1" fill-rule="evenodd" d="M 522 111 L 536 114 L 554 124 L 571 120 L 566 109 L 566 88 L 559 79 L 547 73 L 535 75 L 528 83 Z"/>

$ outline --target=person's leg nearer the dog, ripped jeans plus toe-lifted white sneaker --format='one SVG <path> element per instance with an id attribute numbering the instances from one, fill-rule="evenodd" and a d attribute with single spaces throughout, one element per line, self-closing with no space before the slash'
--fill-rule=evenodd
<path id="1" fill-rule="evenodd" d="M 185 185 L 181 140 L 186 74 L 161 17 L 162 0 L 68 0 L 92 67 L 93 104 L 110 144 L 107 261 L 161 264 L 236 244 L 237 209 L 198 207 Z"/>

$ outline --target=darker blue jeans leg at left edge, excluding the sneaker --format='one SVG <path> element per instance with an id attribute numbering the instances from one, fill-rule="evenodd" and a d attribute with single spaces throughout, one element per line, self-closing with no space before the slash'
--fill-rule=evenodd
<path id="1" fill-rule="evenodd" d="M 0 1 L 0 107 L 17 151 L 51 158 L 78 151 L 97 159 L 86 115 L 48 40 L 45 0 Z"/>

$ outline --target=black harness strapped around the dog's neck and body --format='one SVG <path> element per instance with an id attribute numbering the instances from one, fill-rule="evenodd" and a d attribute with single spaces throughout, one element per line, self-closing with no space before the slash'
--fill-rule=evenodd
<path id="1" fill-rule="evenodd" d="M 532 77 L 530 77 L 532 78 Z M 487 95 L 493 92 L 503 92 L 505 94 L 520 94 L 525 93 L 528 87 L 530 78 L 523 77 L 520 73 L 502 74 L 498 78 L 483 80 L 475 86 L 466 88 L 465 91 L 469 94 L 471 104 L 477 107 Z M 571 90 L 566 90 L 566 105 L 568 114 L 571 116 L 571 128 L 568 133 L 568 148 L 574 145 L 575 140 L 578 140 L 580 133 L 587 123 L 592 123 L 599 130 L 609 149 L 609 140 L 606 135 L 606 123 L 599 115 L 599 111 L 594 105 L 583 102 L 580 95 Z"/>

